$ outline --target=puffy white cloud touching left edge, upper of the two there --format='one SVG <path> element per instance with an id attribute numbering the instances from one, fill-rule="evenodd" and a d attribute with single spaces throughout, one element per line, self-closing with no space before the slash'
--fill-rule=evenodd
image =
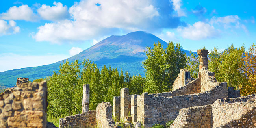
<path id="1" fill-rule="evenodd" d="M 0 19 L 36 21 L 38 17 L 28 5 L 22 5 L 10 7 L 6 13 L 0 14 Z"/>

